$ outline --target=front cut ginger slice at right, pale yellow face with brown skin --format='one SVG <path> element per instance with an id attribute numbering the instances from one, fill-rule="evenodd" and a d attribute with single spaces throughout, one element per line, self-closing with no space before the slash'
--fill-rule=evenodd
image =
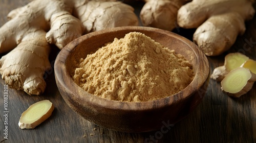
<path id="1" fill-rule="evenodd" d="M 239 98 L 252 88 L 254 81 L 256 81 L 255 74 L 248 68 L 238 67 L 231 70 L 221 81 L 221 89 L 228 96 Z"/>

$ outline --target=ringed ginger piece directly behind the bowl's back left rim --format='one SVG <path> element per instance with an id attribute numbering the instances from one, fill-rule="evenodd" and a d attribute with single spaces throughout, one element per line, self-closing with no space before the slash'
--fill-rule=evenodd
<path id="1" fill-rule="evenodd" d="M 122 2 L 80 0 L 74 3 L 73 15 L 81 20 L 85 33 L 113 27 L 139 26 L 134 8 Z"/>

